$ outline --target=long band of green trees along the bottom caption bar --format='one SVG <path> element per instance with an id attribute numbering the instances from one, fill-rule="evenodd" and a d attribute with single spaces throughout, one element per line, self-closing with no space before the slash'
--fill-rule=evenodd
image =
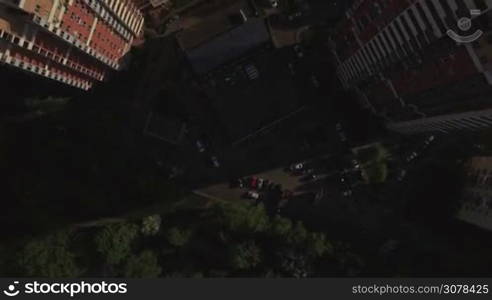
<path id="1" fill-rule="evenodd" d="M 155 231 L 154 221 L 161 218 Z M 262 205 L 217 202 L 151 219 L 33 239 L 20 252 L 17 268 L 42 277 L 306 277 L 316 274 L 320 261 L 337 262 L 323 233 L 270 217 Z M 152 234 L 144 234 L 147 227 Z"/>

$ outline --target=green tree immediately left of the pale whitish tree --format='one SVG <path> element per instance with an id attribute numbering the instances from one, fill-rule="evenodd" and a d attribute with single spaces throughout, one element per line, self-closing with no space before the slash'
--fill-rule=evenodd
<path id="1" fill-rule="evenodd" d="M 132 241 L 137 234 L 138 226 L 135 224 L 110 224 L 96 235 L 96 249 L 107 263 L 116 265 L 130 255 Z"/>

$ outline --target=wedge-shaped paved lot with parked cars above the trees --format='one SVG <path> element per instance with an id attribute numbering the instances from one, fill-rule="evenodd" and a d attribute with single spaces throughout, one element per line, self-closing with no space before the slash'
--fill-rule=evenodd
<path id="1" fill-rule="evenodd" d="M 286 167 L 250 174 L 195 190 L 200 196 L 225 201 L 249 201 L 268 206 L 290 206 L 290 202 L 318 205 L 333 197 L 344 195 L 341 173 L 327 168 L 336 159 L 331 155 L 300 161 Z M 273 193 L 272 193 L 273 191 Z M 279 203 L 280 201 L 280 203 Z M 295 204 L 297 205 L 297 204 Z M 279 211 L 277 211 L 279 212 Z"/>

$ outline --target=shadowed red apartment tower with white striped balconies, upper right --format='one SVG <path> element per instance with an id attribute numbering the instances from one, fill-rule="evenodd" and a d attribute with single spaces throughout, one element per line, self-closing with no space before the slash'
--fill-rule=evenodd
<path id="1" fill-rule="evenodd" d="M 491 0 L 357 0 L 330 37 L 343 86 L 402 133 L 492 126 Z M 463 30 L 458 22 L 471 21 Z M 449 31 L 473 42 L 455 41 Z"/>

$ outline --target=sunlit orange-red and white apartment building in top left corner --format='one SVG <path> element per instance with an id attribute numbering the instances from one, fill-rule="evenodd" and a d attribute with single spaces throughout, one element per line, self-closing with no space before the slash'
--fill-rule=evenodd
<path id="1" fill-rule="evenodd" d="M 0 63 L 88 90 L 121 69 L 143 22 L 130 0 L 0 0 Z"/>

